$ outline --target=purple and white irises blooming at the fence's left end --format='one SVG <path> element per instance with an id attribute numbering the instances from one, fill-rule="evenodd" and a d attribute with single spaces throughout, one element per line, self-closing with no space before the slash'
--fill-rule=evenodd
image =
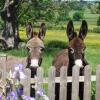
<path id="1" fill-rule="evenodd" d="M 6 79 L 6 84 L 4 88 L 0 88 L 0 100 L 4 100 L 3 96 L 5 96 L 5 100 L 49 100 L 49 98 L 45 95 L 44 90 L 39 90 L 36 92 L 37 99 L 30 96 L 25 96 L 23 92 L 23 85 L 20 83 L 20 79 L 26 79 L 27 76 L 24 73 L 24 67 L 22 64 L 15 64 L 14 71 L 9 72 L 9 75 Z M 16 82 L 14 82 L 14 80 Z"/>

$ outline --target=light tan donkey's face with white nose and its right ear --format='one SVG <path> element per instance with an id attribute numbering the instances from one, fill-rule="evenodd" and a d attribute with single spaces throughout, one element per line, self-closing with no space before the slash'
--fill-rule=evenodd
<path id="1" fill-rule="evenodd" d="M 42 23 L 43 24 L 43 23 Z M 44 29 L 45 24 L 40 26 L 39 33 L 33 32 L 33 37 L 27 42 L 26 47 L 28 51 L 27 67 L 38 67 L 42 63 L 42 52 L 44 50 Z"/>

